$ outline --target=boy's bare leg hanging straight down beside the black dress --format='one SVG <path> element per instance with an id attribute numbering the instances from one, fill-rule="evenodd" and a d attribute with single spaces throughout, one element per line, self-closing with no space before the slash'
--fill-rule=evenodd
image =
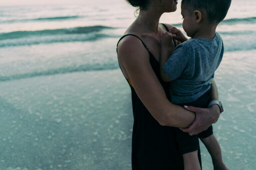
<path id="1" fill-rule="evenodd" d="M 183 154 L 184 170 L 201 170 L 197 150 Z"/>

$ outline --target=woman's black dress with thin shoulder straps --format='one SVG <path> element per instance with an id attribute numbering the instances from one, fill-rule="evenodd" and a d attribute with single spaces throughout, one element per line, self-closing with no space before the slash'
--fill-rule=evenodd
<path id="1" fill-rule="evenodd" d="M 163 26 L 166 28 L 166 31 L 169 31 L 164 24 Z M 128 34 L 121 37 L 120 40 L 126 36 L 134 36 L 140 39 L 136 35 Z M 149 52 L 152 69 L 169 99 L 169 86 L 168 83 L 161 79 L 159 62 L 152 55 L 146 44 L 142 40 L 141 42 Z M 132 170 L 184 170 L 183 157 L 176 140 L 175 128 L 161 126 L 141 102 L 129 80 L 127 82 L 131 88 L 134 117 Z M 201 164 L 200 150 L 198 155 Z"/>

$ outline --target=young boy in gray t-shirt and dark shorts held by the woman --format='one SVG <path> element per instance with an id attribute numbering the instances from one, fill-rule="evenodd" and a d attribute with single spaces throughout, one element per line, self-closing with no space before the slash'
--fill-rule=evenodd
<path id="1" fill-rule="evenodd" d="M 182 26 L 192 39 L 187 40 L 176 28 L 162 35 L 160 72 L 164 81 L 171 82 L 173 104 L 207 108 L 211 102 L 211 82 L 224 51 L 216 27 L 225 18 L 230 4 L 231 0 L 182 0 Z M 174 50 L 172 39 L 183 43 Z M 222 106 L 220 109 L 223 111 Z M 177 128 L 176 134 L 185 170 L 201 170 L 197 153 L 198 137 L 212 157 L 214 170 L 228 170 L 222 161 L 212 127 L 193 136 Z"/>

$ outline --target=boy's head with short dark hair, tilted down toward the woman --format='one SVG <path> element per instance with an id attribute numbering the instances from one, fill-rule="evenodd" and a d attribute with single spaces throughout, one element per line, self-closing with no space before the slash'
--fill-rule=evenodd
<path id="1" fill-rule="evenodd" d="M 193 37 L 193 32 L 199 29 L 199 24 L 216 28 L 226 17 L 230 4 L 231 0 L 182 0 L 184 31 L 189 37 Z"/>

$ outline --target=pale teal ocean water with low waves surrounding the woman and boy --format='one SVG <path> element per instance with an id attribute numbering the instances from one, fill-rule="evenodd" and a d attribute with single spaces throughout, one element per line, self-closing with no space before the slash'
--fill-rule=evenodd
<path id="1" fill-rule="evenodd" d="M 230 170 L 256 169 L 255 9 L 233 0 L 217 28 L 225 112 L 214 133 Z M 134 11 L 124 0 L 0 6 L 0 170 L 131 169 L 131 94 L 115 48 Z M 160 21 L 182 29 L 180 1 Z"/>

